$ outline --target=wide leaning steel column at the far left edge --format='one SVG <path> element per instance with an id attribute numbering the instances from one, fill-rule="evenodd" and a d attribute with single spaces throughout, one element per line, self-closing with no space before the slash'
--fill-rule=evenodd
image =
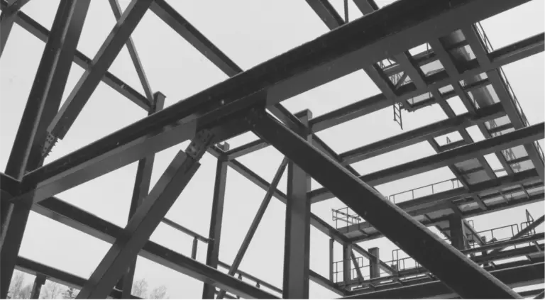
<path id="1" fill-rule="evenodd" d="M 38 167 L 34 163 L 41 155 L 37 143 L 60 104 L 89 1 L 60 1 L 6 166 L 6 174 L 13 178 L 21 180 L 27 170 Z M 31 205 L 0 204 L 0 299 L 8 293 Z"/>

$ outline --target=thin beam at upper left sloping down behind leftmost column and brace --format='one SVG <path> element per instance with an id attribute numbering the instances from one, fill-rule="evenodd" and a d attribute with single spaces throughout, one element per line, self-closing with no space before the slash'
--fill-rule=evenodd
<path id="1" fill-rule="evenodd" d="M 6 9 L 6 4 L 4 1 L 0 1 L 0 9 L 4 10 Z M 44 43 L 48 41 L 49 38 L 49 30 L 43 26 L 40 25 L 40 23 L 36 22 L 28 16 L 26 13 L 23 13 L 22 11 L 18 11 L 16 13 L 15 17 L 15 23 L 17 23 L 22 28 L 26 29 L 29 33 L 34 35 L 36 38 L 42 40 Z M 74 56 L 74 62 L 79 65 L 79 67 L 82 67 L 84 70 L 89 70 L 91 67 L 92 60 L 85 56 L 82 52 L 79 52 L 76 50 L 76 54 Z M 142 94 L 138 93 L 136 89 L 133 89 L 130 85 L 123 82 L 121 79 L 116 77 L 114 74 L 111 74 L 109 72 L 106 72 L 104 74 L 104 77 L 102 77 L 102 81 L 107 84 L 112 89 L 119 92 L 119 94 L 122 94 L 127 99 L 133 101 L 134 104 L 140 106 L 141 108 L 145 109 L 146 111 L 150 111 L 151 104 L 148 99 L 145 98 Z"/>

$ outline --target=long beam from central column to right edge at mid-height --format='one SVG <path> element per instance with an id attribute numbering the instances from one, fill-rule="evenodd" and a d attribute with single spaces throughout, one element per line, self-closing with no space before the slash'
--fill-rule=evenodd
<path id="1" fill-rule="evenodd" d="M 470 145 L 461 146 L 453 150 L 448 150 L 436 155 L 431 155 L 419 160 L 413 160 L 412 162 L 406 162 L 402 165 L 397 165 L 395 167 L 390 167 L 378 172 L 363 175 L 360 177 L 360 179 L 363 180 L 363 182 L 373 186 L 385 184 L 397 179 L 402 179 L 415 174 L 436 170 L 440 167 L 453 165 L 457 162 L 463 162 L 478 155 L 486 155 L 498 150 L 513 148 L 517 145 L 532 143 L 534 140 L 545 138 L 544 130 L 545 122 L 538 123 L 533 126 L 514 130 L 510 133 L 506 133 L 505 135 L 498 135 L 494 138 L 481 140 Z M 311 192 L 311 194 L 313 198 L 319 200 L 331 199 L 333 196 L 325 188 L 315 189 Z"/>

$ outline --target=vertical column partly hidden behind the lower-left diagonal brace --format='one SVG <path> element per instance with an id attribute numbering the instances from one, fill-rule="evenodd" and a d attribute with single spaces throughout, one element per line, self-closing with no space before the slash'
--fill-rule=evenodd
<path id="1" fill-rule="evenodd" d="M 148 115 L 160 111 L 165 106 L 165 95 L 157 92 L 153 95 L 153 108 Z M 150 191 L 151 173 L 153 171 L 153 162 L 155 155 L 144 157 L 138 161 L 138 169 L 136 170 L 136 179 L 133 188 L 133 198 L 131 199 L 131 207 L 128 210 L 128 221 L 131 221 L 138 206 L 142 204 L 145 197 Z M 134 269 L 136 268 L 136 260 L 128 267 L 127 273 L 119 280 L 116 287 L 121 291 L 121 300 L 131 299 L 131 291 L 133 289 Z"/>

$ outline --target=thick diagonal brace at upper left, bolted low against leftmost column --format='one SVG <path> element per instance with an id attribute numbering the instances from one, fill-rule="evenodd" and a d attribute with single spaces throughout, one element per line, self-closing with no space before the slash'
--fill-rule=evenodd
<path id="1" fill-rule="evenodd" d="M 68 129 L 76 121 L 77 116 L 89 101 L 102 77 L 119 55 L 121 48 L 123 48 L 123 45 L 125 45 L 152 3 L 153 0 L 132 0 L 128 4 L 116 26 L 111 30 L 94 56 L 91 63 L 92 68 L 85 71 L 50 124 L 48 131 L 54 138 L 61 140 L 65 138 Z"/>

